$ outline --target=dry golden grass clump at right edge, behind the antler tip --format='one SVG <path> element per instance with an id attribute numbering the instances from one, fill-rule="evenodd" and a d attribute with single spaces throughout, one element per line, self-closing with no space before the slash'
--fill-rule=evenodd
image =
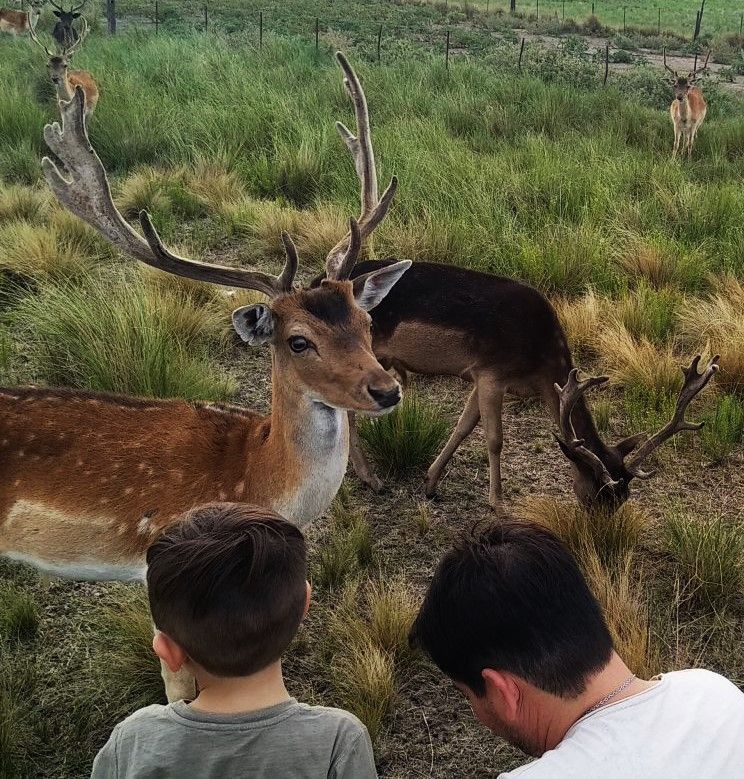
<path id="1" fill-rule="evenodd" d="M 721 355 L 716 383 L 744 393 L 744 285 L 731 274 L 714 283 L 713 294 L 690 301 L 680 313 L 680 331 L 694 349 Z"/>

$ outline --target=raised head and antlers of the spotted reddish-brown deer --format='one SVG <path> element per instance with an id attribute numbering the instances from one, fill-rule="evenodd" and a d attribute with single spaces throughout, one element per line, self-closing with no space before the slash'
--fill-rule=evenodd
<path id="1" fill-rule="evenodd" d="M 339 55 L 338 60 L 346 79 L 358 86 L 346 59 Z M 42 167 L 49 186 L 72 213 L 147 265 L 265 294 L 266 303 L 233 312 L 235 330 L 247 343 L 270 343 L 283 381 L 302 388 L 310 400 L 370 414 L 385 413 L 399 402 L 400 385 L 372 352 L 367 311 L 385 297 L 411 263 L 398 262 L 350 281 L 362 245 L 363 224 L 364 234 L 369 232 L 367 222 L 350 220 L 345 249 L 341 254 L 332 253 L 333 263 L 329 255 L 327 278 L 317 289 L 295 287 L 297 250 L 286 233 L 282 235 L 286 262 L 278 276 L 179 257 L 164 246 L 147 212 L 140 213 L 140 234 L 114 205 L 106 171 L 88 139 L 82 89 L 78 87 L 73 100 L 63 101 L 60 107 L 62 125 L 47 125 L 44 139 L 64 166 L 64 173 L 48 157 L 42 160 Z M 375 223 L 382 221 L 391 199 L 377 210 Z"/>

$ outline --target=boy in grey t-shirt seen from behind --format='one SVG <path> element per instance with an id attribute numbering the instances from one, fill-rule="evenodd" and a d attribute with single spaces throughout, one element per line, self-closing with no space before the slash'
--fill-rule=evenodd
<path id="1" fill-rule="evenodd" d="M 201 506 L 147 552 L 153 649 L 196 677 L 193 701 L 148 706 L 115 728 L 94 779 L 373 779 L 366 728 L 287 693 L 281 656 L 307 613 L 305 540 L 277 514 Z"/>

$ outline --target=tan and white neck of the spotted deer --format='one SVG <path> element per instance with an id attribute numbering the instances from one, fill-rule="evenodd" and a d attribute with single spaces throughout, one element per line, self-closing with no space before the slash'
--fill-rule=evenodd
<path id="1" fill-rule="evenodd" d="M 284 484 L 275 485 L 272 508 L 305 525 L 323 514 L 338 492 L 349 457 L 345 411 L 315 400 L 274 358 L 269 462 L 277 463 Z"/>

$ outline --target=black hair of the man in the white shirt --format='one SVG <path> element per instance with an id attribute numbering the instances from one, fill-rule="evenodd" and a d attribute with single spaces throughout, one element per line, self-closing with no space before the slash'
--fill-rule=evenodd
<path id="1" fill-rule="evenodd" d="M 573 556 L 553 533 L 506 520 L 442 558 L 411 642 L 483 695 L 484 668 L 571 698 L 610 660 L 612 639 Z"/>

